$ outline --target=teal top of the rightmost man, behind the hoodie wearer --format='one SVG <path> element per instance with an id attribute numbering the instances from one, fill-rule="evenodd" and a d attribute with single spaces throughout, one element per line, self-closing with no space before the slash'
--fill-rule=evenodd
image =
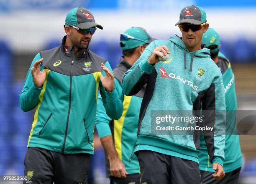
<path id="1" fill-rule="evenodd" d="M 223 169 L 226 173 L 242 167 L 242 153 L 239 142 L 239 135 L 232 134 L 236 130 L 236 88 L 235 76 L 233 74 L 229 60 L 221 52 L 218 53 L 218 63 L 225 90 L 226 103 L 226 140 L 225 140 L 225 162 Z M 205 140 L 200 137 L 199 167 L 202 171 L 215 172 L 209 160 Z"/>

